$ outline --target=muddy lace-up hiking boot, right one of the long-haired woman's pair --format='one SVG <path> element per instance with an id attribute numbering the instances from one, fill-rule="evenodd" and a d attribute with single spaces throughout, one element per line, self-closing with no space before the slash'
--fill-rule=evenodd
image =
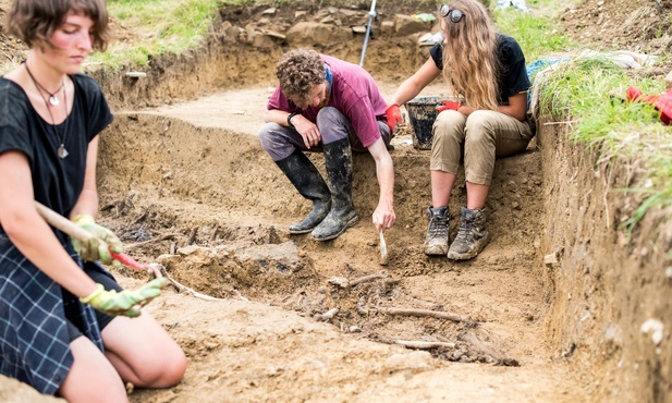
<path id="1" fill-rule="evenodd" d="M 485 208 L 469 210 L 462 207 L 460 216 L 460 231 L 447 255 L 452 260 L 467 260 L 475 257 L 490 241 L 490 233 L 486 229 Z"/>

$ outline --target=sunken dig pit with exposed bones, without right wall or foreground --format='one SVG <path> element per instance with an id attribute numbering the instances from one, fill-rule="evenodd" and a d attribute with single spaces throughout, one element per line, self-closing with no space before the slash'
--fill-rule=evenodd
<path id="1" fill-rule="evenodd" d="M 550 296 L 539 255 L 542 175 L 534 144 L 498 161 L 488 204 L 493 241 L 477 259 L 454 264 L 423 253 L 429 151 L 415 149 L 412 129 L 404 127 L 391 151 L 398 222 L 387 233 L 390 262 L 383 267 L 370 223 L 378 183 L 368 154 L 354 155 L 362 218 L 355 228 L 327 243 L 286 232 L 310 205 L 258 145 L 268 94 L 267 87 L 230 90 L 117 113 L 101 143 L 101 210 L 130 253 L 162 264 L 199 293 L 325 321 L 345 339 L 426 351 L 436 359 L 431 366 L 543 368 L 551 378 L 563 374 L 550 390 L 569 388 L 565 364 L 548 365 L 543 340 Z M 323 172 L 321 156 L 310 158 Z M 453 217 L 465 197 L 459 186 Z M 451 239 L 455 234 L 456 220 Z M 218 309 L 188 315 L 216 320 Z"/>

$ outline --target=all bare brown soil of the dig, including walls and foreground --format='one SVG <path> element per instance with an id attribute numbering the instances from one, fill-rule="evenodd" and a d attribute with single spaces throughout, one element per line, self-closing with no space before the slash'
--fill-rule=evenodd
<path id="1" fill-rule="evenodd" d="M 625 24 L 632 30 L 624 34 L 618 22 L 623 9 L 633 12 L 625 2 L 586 1 L 562 14 L 567 33 L 586 47 L 663 53 L 669 22 L 655 15 L 668 14 L 669 4 L 650 3 L 639 9 L 653 10 L 642 15 L 651 19 L 647 27 L 660 24 L 657 41 L 635 24 Z M 379 265 L 370 223 L 378 183 L 366 154 L 354 158 L 356 227 L 327 243 L 286 232 L 310 207 L 256 138 L 274 62 L 306 46 L 357 63 L 364 36 L 351 27 L 366 23 L 368 8 L 225 8 L 204 51 L 157 58 L 139 80 L 91 71 L 115 113 L 102 135 L 101 221 L 129 254 L 160 262 L 174 280 L 216 300 L 168 288 L 146 307 L 190 364 L 181 384 L 134 390 L 131 400 L 665 401 L 669 335 L 659 351 L 648 338 L 634 343 L 646 354 L 627 344 L 649 316 L 672 312 L 651 296 L 669 292 L 659 269 L 670 265 L 664 246 L 672 232 L 653 228 L 660 236 L 652 241 L 624 241 L 614 223 L 628 207 L 609 188 L 638 179 L 618 169 L 607 179 L 595 156 L 565 144 L 554 124 L 548 125 L 553 131 L 542 125 L 526 152 L 498 160 L 487 204 L 492 241 L 471 261 L 423 253 L 429 151 L 414 148 L 410 126 L 391 151 L 398 222 L 386 233 L 389 265 Z M 428 48 L 417 39 L 432 32 L 431 23 L 395 14 L 433 5 L 384 1 L 377 11 L 365 68 L 389 98 L 426 60 Z M 2 44 L 0 60 L 21 60 L 20 44 L 4 34 Z M 437 82 L 424 95 L 442 88 Z M 311 158 L 323 171 L 321 156 Z M 452 200 L 451 215 L 459 217 L 464 186 Z M 457 223 L 451 221 L 451 239 Z M 616 244 L 621 251 L 612 254 Z M 640 300 L 627 301 L 621 292 L 627 285 L 609 270 L 614 265 L 628 284 L 640 285 L 631 290 Z M 637 270 L 639 277 L 627 274 Z M 113 272 L 127 288 L 147 281 L 145 273 Z M 433 316 L 423 316 L 428 313 Z M 2 378 L 4 396 L 50 400 Z"/>

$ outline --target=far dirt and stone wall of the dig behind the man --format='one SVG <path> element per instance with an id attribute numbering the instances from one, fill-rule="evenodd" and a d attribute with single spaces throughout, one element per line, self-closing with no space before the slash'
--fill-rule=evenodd
<path id="1" fill-rule="evenodd" d="M 362 8 L 368 10 L 369 5 L 354 2 L 339 7 L 314 2 L 278 9 L 269 4 L 227 5 L 220 10 L 211 32 L 198 49 L 183 54 L 152 57 L 146 68 L 129 65 L 124 71 L 112 73 L 94 66 L 86 73 L 105 87 L 111 107 L 123 110 L 170 105 L 221 88 L 243 88 L 258 83 L 276 85 L 276 63 L 282 53 L 296 47 L 359 63 L 364 35 L 355 33 L 351 26 L 366 25 L 366 12 Z M 269 9 L 274 10 L 272 15 L 265 13 Z M 408 33 L 398 33 L 389 23 L 396 13 L 413 14 L 417 10 L 431 12 L 433 9 L 432 4 L 418 5 L 413 1 L 377 7 L 364 65 L 376 80 L 401 82 L 425 62 L 429 48 L 418 48 L 417 38 L 437 27 L 432 23 L 424 23 L 410 28 L 412 30 Z M 298 13 L 302 13 L 301 16 L 295 16 Z M 318 34 L 322 25 L 308 25 L 293 36 L 286 33 L 292 25 L 317 19 L 329 20 L 329 24 L 339 26 L 341 35 L 320 38 Z M 276 30 L 284 34 L 262 34 Z M 126 71 L 138 70 L 147 75 L 139 78 L 125 75 Z"/>

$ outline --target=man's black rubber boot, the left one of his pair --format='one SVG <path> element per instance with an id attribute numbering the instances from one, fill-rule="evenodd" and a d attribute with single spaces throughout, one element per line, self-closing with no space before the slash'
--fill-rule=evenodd
<path id="1" fill-rule="evenodd" d="M 276 161 L 298 193 L 313 202 L 313 210 L 300 222 L 290 225 L 291 234 L 305 234 L 315 229 L 331 209 L 331 192 L 313 162 L 296 149 L 288 158 Z"/>

